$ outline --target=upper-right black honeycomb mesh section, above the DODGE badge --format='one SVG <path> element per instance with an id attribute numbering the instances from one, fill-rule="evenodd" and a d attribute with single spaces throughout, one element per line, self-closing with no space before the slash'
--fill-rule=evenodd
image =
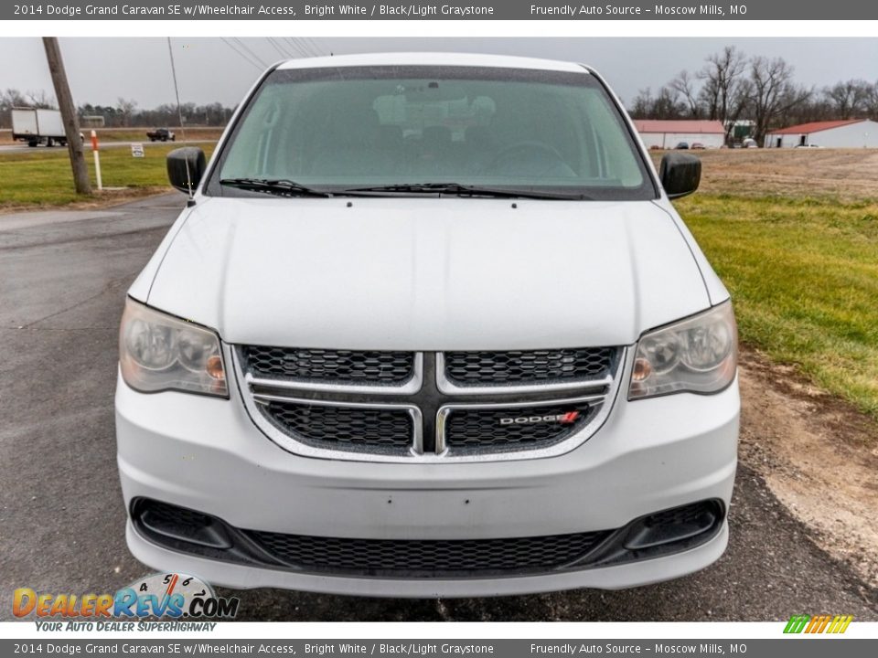
<path id="1" fill-rule="evenodd" d="M 457 386 L 540 385 L 607 377 L 615 347 L 511 352 L 445 352 L 444 375 Z"/>

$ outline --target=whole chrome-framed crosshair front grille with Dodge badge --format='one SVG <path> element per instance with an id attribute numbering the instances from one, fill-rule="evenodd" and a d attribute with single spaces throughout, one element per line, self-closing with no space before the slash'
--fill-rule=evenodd
<path id="1" fill-rule="evenodd" d="M 294 365 L 266 366 L 273 362 L 265 355 L 278 354 L 293 355 L 284 363 Z M 300 359 L 302 354 L 308 356 Z M 344 358 L 329 359 L 333 366 L 327 366 L 327 354 Z M 352 354 L 369 356 L 357 366 L 337 366 Z M 286 450 L 327 459 L 423 462 L 528 459 L 573 450 L 603 423 L 625 354 L 621 347 L 497 353 L 233 349 L 251 418 Z M 402 362 L 408 364 L 404 376 L 397 367 Z M 482 365 L 476 368 L 480 383 L 470 377 L 466 385 L 455 380 L 449 386 L 447 373 L 469 367 L 464 363 Z M 539 373 L 533 377 L 566 374 L 523 378 L 526 363 L 531 374 Z M 398 377 L 380 378 L 389 370 L 373 364 L 397 364 L 388 368 Z M 341 370 L 348 379 L 327 379 L 328 371 Z M 356 379 L 349 376 L 354 370 Z M 574 418 L 542 421 L 571 413 Z"/>

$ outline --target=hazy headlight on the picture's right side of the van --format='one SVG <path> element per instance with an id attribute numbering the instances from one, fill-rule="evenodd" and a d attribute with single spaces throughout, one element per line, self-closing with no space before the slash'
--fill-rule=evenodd
<path id="1" fill-rule="evenodd" d="M 628 399 L 716 393 L 732 383 L 737 365 L 738 329 L 732 302 L 723 302 L 640 337 Z"/>

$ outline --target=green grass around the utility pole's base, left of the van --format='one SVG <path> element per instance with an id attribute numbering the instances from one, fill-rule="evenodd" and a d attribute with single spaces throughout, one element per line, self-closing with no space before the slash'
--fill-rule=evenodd
<path id="1" fill-rule="evenodd" d="M 203 144 L 210 156 L 213 144 Z M 101 152 L 104 187 L 137 189 L 168 187 L 166 154 L 177 148 L 168 144 L 144 144 L 145 157 L 134 158 L 131 150 L 115 147 Z M 91 185 L 95 186 L 94 159 L 86 152 Z M 0 207 L 64 206 L 83 197 L 73 190 L 73 174 L 67 149 L 0 154 Z"/>

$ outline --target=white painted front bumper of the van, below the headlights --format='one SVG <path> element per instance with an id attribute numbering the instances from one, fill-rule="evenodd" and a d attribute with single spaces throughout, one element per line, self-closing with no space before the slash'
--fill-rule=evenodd
<path id="1" fill-rule="evenodd" d="M 233 387 L 234 388 L 234 387 Z M 710 565 L 728 542 L 725 511 L 737 462 L 737 382 L 712 396 L 628 402 L 564 455 L 510 462 L 380 463 L 314 459 L 267 439 L 237 391 L 230 399 L 145 395 L 119 380 L 118 464 L 129 515 L 151 500 L 209 515 L 235 531 L 423 543 L 611 533 L 636 519 L 703 501 L 720 517 L 698 541 L 568 568 L 399 574 L 336 572 L 226 558 L 160 541 L 129 518 L 127 541 L 146 565 L 237 589 L 283 587 L 393 597 L 465 597 L 574 588 L 620 589 Z M 616 543 L 623 541 L 616 534 Z M 403 571 L 404 572 L 404 565 Z M 449 572 L 450 573 L 450 572 Z"/>

